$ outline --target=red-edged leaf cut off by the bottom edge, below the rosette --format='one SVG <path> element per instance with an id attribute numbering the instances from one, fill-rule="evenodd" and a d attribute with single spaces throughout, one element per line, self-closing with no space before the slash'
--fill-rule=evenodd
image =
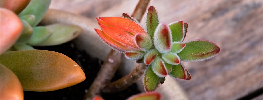
<path id="1" fill-rule="evenodd" d="M 158 92 L 146 92 L 129 97 L 127 100 L 161 100 L 161 94 Z"/>

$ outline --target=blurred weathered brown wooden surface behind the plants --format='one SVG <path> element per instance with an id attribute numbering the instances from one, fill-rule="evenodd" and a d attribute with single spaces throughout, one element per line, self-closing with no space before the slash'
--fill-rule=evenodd
<path id="1" fill-rule="evenodd" d="M 131 14 L 137 2 L 53 0 L 51 8 L 84 15 L 97 23 L 95 17 Z M 263 87 L 262 0 L 152 0 L 150 5 L 158 10 L 160 22 L 188 23 L 185 41 L 208 39 L 222 49 L 212 59 L 183 62 L 192 79 L 179 82 L 191 99 L 235 100 Z"/>

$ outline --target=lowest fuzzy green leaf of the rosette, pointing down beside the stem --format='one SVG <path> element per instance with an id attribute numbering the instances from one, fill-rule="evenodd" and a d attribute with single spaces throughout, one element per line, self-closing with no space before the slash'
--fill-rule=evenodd
<path id="1" fill-rule="evenodd" d="M 160 84 L 159 77 L 154 73 L 150 66 L 147 67 L 144 72 L 142 81 L 146 92 L 154 91 Z"/>

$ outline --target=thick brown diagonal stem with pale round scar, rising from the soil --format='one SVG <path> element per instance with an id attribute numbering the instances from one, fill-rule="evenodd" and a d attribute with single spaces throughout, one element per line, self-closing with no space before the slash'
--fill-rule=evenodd
<path id="1" fill-rule="evenodd" d="M 98 95 L 101 92 L 103 85 L 112 79 L 114 73 L 120 65 L 121 55 L 122 53 L 111 50 L 101 66 L 97 77 L 89 87 L 88 93 L 85 95 L 85 100 L 93 99 L 95 95 Z"/>

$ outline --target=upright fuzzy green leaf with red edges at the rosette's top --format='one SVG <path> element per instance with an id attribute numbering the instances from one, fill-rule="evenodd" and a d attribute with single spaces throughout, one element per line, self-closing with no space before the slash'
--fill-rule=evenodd
<path id="1" fill-rule="evenodd" d="M 146 17 L 146 28 L 147 33 L 151 37 L 151 39 L 154 39 L 154 31 L 156 30 L 156 27 L 159 25 L 159 19 L 157 15 L 157 11 L 154 8 L 154 6 L 150 6 L 147 11 L 147 17 Z"/>

